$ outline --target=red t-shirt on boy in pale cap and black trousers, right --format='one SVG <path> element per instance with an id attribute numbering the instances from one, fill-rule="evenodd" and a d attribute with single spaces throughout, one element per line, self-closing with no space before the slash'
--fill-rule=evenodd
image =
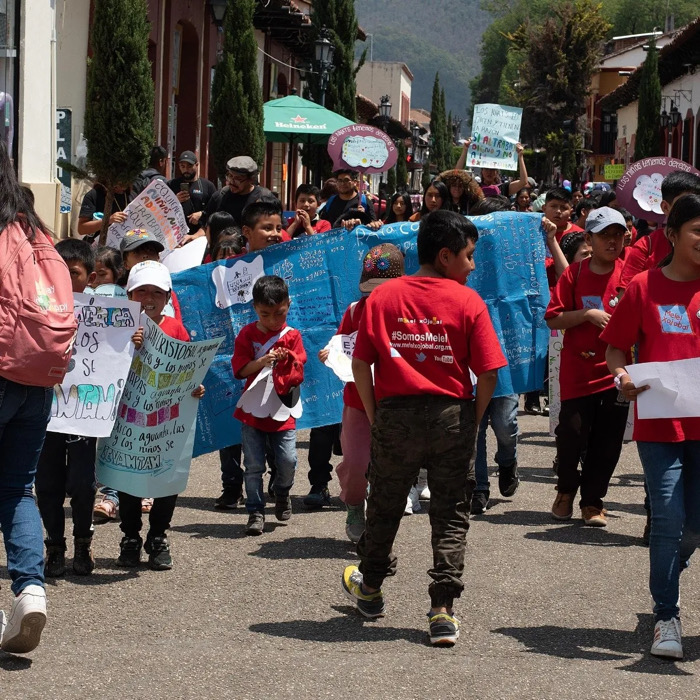
<path id="1" fill-rule="evenodd" d="M 591 272 L 590 258 L 569 265 L 552 290 L 545 319 L 554 318 L 564 311 L 579 309 L 601 309 L 612 314 L 616 307 L 611 307 L 610 302 L 617 295 L 617 282 L 621 272 L 620 260 L 615 261 L 615 267 L 606 275 Z M 608 344 L 600 339 L 600 332 L 598 326 L 588 321 L 567 328 L 564 332 L 559 369 L 562 401 L 588 396 L 615 386 L 605 362 Z"/>

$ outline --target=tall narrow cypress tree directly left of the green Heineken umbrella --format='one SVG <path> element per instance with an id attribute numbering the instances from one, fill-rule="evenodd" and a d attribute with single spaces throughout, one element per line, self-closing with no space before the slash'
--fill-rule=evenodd
<path id="1" fill-rule="evenodd" d="M 250 156 L 261 165 L 265 157 L 255 5 L 255 0 L 228 0 L 226 9 L 223 51 L 214 71 L 210 107 L 209 148 L 220 176 L 230 158 Z"/>

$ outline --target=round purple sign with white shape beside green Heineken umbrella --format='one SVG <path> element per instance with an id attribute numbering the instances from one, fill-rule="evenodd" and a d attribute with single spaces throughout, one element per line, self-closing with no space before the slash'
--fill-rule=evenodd
<path id="1" fill-rule="evenodd" d="M 333 132 L 328 139 L 333 170 L 350 168 L 361 173 L 384 173 L 393 168 L 398 150 L 393 139 L 381 129 L 353 124 Z"/>

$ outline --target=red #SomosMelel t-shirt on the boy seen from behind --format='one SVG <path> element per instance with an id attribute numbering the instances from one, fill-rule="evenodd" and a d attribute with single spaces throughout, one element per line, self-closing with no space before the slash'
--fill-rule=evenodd
<path id="1" fill-rule="evenodd" d="M 478 377 L 505 367 L 483 299 L 453 280 L 401 277 L 365 304 L 354 357 L 374 364 L 377 400 L 436 394 L 471 399 Z"/>

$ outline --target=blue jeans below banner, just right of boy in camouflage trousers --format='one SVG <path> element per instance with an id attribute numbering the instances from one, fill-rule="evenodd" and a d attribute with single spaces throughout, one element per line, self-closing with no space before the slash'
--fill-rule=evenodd
<path id="1" fill-rule="evenodd" d="M 486 428 L 491 427 L 496 436 L 496 464 L 512 467 L 518 462 L 518 395 L 498 396 L 491 399 L 479 425 L 476 437 L 476 491 L 489 492 L 489 470 L 486 459 Z"/>

